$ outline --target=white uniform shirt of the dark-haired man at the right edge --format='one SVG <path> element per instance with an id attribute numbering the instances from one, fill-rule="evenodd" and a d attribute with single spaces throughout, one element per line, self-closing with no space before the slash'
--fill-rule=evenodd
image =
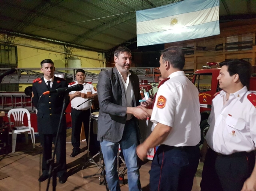
<path id="1" fill-rule="evenodd" d="M 225 91 L 220 91 L 213 99 L 208 118 L 210 127 L 205 139 L 217 153 L 232 154 L 256 149 L 256 108 L 247 98 L 249 94 L 243 87 L 230 94 L 225 105 Z"/>

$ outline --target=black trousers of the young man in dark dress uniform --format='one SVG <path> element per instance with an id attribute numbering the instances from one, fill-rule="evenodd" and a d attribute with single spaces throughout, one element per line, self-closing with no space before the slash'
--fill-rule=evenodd
<path id="1" fill-rule="evenodd" d="M 41 145 L 43 147 L 42 171 L 43 175 L 48 175 L 49 164 L 47 164 L 46 161 L 52 158 L 52 142 L 55 144 L 56 134 L 39 134 L 39 137 Z M 67 172 L 66 132 L 59 134 L 56 147 L 56 159 L 58 164 L 57 176 L 60 177 Z"/>

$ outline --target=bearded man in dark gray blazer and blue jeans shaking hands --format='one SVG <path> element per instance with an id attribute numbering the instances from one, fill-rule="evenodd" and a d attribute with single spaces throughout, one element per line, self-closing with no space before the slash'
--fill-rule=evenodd
<path id="1" fill-rule="evenodd" d="M 120 144 L 128 168 L 130 191 L 141 190 L 139 166 L 136 155 L 139 127 L 138 119 L 146 119 L 139 105 L 139 78 L 130 73 L 131 51 L 118 47 L 114 53 L 115 67 L 99 74 L 97 92 L 99 98 L 98 140 L 106 165 L 109 190 L 120 191 L 117 173 L 117 148 Z M 135 118 L 135 117 L 136 118 Z"/>

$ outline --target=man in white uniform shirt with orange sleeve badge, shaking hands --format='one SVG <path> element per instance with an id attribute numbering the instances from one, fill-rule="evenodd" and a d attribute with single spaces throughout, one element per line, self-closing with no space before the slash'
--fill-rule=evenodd
<path id="1" fill-rule="evenodd" d="M 137 147 L 140 159 L 157 145 L 150 171 L 150 191 L 191 191 L 199 163 L 200 104 L 198 90 L 185 76 L 179 47 L 163 50 L 159 85 L 153 110 L 144 109 L 155 127 Z"/>

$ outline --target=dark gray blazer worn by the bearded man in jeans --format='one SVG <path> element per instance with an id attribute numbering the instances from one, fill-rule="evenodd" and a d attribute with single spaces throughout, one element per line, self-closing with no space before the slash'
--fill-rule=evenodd
<path id="1" fill-rule="evenodd" d="M 133 105 L 138 106 L 141 94 L 139 93 L 139 78 L 132 73 L 129 76 L 133 88 Z M 126 94 L 116 67 L 103 70 L 99 73 L 97 84 L 99 98 L 98 141 L 106 140 L 119 142 L 123 136 L 126 123 Z M 138 122 L 136 122 L 138 124 Z M 138 136 L 139 135 L 139 127 Z"/>

